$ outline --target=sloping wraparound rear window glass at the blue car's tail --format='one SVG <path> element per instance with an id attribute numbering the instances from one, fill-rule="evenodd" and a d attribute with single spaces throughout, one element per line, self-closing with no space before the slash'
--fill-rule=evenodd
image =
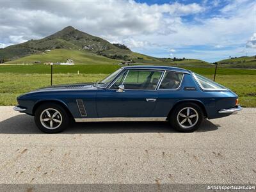
<path id="1" fill-rule="evenodd" d="M 200 76 L 195 73 L 193 73 L 193 76 L 195 77 L 197 83 L 203 90 L 227 90 L 225 86 L 215 83 L 214 81 L 211 81 L 210 79 L 207 79 L 204 76 Z"/>

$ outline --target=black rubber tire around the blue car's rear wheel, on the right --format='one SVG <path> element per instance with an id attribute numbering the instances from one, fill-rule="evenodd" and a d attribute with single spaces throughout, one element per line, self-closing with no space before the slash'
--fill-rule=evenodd
<path id="1" fill-rule="evenodd" d="M 189 115 L 188 115 L 188 111 L 189 111 Z M 186 117 L 184 117 L 184 113 Z M 179 114 L 182 116 L 180 116 Z M 198 115 L 198 118 L 195 115 Z M 194 116 L 194 117 L 189 118 L 189 116 Z M 202 123 L 202 120 L 204 120 L 204 113 L 202 111 L 202 108 L 200 108 L 200 106 L 198 106 L 193 102 L 184 102 L 182 104 L 179 104 L 178 106 L 175 107 L 175 109 L 173 109 L 169 118 L 169 121 L 172 127 L 180 132 L 196 131 L 196 129 L 198 129 L 198 127 Z M 183 124 L 181 124 L 182 122 Z"/>

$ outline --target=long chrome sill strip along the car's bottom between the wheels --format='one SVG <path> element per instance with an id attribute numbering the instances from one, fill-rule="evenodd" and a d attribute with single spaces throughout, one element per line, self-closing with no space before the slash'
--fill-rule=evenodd
<path id="1" fill-rule="evenodd" d="M 76 122 L 159 122 L 166 121 L 166 117 L 103 117 L 103 118 L 75 118 Z"/>

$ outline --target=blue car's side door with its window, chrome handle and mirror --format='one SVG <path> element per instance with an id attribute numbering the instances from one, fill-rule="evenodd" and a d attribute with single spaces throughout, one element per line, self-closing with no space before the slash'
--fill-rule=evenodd
<path id="1" fill-rule="evenodd" d="M 98 117 L 150 117 L 163 71 L 125 70 L 108 89 L 97 92 Z M 118 86 L 124 86 L 118 92 Z"/>

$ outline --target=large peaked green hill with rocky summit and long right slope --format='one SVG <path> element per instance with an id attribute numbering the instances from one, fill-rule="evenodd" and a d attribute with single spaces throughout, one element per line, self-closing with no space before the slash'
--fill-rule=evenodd
<path id="1" fill-rule="evenodd" d="M 102 38 L 89 35 L 71 26 L 40 40 L 29 40 L 0 49 L 0 63 L 65 62 L 69 58 L 74 60 L 75 64 L 86 65 L 132 61 L 142 65 L 208 66 L 208 63 L 200 60 L 154 58 L 132 52 L 125 45 L 111 44 Z"/>

